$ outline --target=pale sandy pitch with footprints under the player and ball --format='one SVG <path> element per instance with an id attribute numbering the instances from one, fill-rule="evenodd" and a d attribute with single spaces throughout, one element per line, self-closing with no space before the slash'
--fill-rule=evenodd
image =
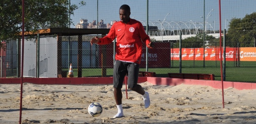
<path id="1" fill-rule="evenodd" d="M 123 86 L 124 117 L 117 113 L 112 85 L 37 85 L 23 83 L 22 124 L 244 124 L 256 122 L 256 90 L 200 85 L 159 86 L 141 83 L 151 106 Z M 90 103 L 103 107 L 99 117 L 87 112 Z M 0 84 L 0 124 L 18 124 L 20 84 Z"/>

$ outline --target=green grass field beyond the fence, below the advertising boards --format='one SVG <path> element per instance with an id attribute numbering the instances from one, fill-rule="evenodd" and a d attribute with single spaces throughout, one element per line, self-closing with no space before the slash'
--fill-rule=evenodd
<path id="1" fill-rule="evenodd" d="M 149 68 L 149 72 L 156 72 L 157 77 L 168 77 L 169 72 L 179 73 L 179 61 L 173 61 L 171 68 Z M 224 65 L 224 64 L 223 64 Z M 226 81 L 253 82 L 256 83 L 256 62 L 240 62 L 240 67 L 235 62 L 226 62 Z M 67 70 L 67 69 L 66 69 Z M 140 68 L 140 71 L 146 71 Z M 77 77 L 77 69 L 73 69 Z M 224 72 L 224 71 L 223 71 Z M 182 61 L 181 73 L 214 74 L 215 80 L 221 81 L 220 62 L 205 61 Z M 112 76 L 113 69 L 107 69 L 107 76 Z M 101 77 L 102 69 L 82 69 L 83 77 Z"/>

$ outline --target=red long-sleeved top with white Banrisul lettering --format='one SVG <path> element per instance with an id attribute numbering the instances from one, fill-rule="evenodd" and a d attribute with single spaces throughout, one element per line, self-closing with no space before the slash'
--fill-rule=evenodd
<path id="1" fill-rule="evenodd" d="M 115 60 L 134 62 L 140 64 L 142 57 L 142 42 L 150 43 L 149 36 L 145 33 L 142 24 L 130 19 L 127 24 L 122 21 L 114 23 L 107 34 L 99 39 L 97 44 L 104 45 L 112 43 L 117 37 Z"/>

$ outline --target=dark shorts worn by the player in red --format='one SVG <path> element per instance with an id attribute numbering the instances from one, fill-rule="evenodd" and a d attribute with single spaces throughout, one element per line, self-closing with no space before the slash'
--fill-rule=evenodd
<path id="1" fill-rule="evenodd" d="M 138 82 L 139 64 L 116 60 L 113 71 L 114 88 L 122 88 L 126 74 L 128 74 L 128 88 L 135 87 Z"/>

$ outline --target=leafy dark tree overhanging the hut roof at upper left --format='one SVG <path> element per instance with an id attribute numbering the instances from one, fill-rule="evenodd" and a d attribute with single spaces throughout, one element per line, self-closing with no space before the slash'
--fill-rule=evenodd
<path id="1" fill-rule="evenodd" d="M 36 32 L 39 29 L 67 28 L 69 15 L 86 5 L 84 1 L 70 5 L 69 0 L 25 0 L 25 31 Z M 22 29 L 22 0 L 0 1 L 0 41 L 17 38 Z"/>

